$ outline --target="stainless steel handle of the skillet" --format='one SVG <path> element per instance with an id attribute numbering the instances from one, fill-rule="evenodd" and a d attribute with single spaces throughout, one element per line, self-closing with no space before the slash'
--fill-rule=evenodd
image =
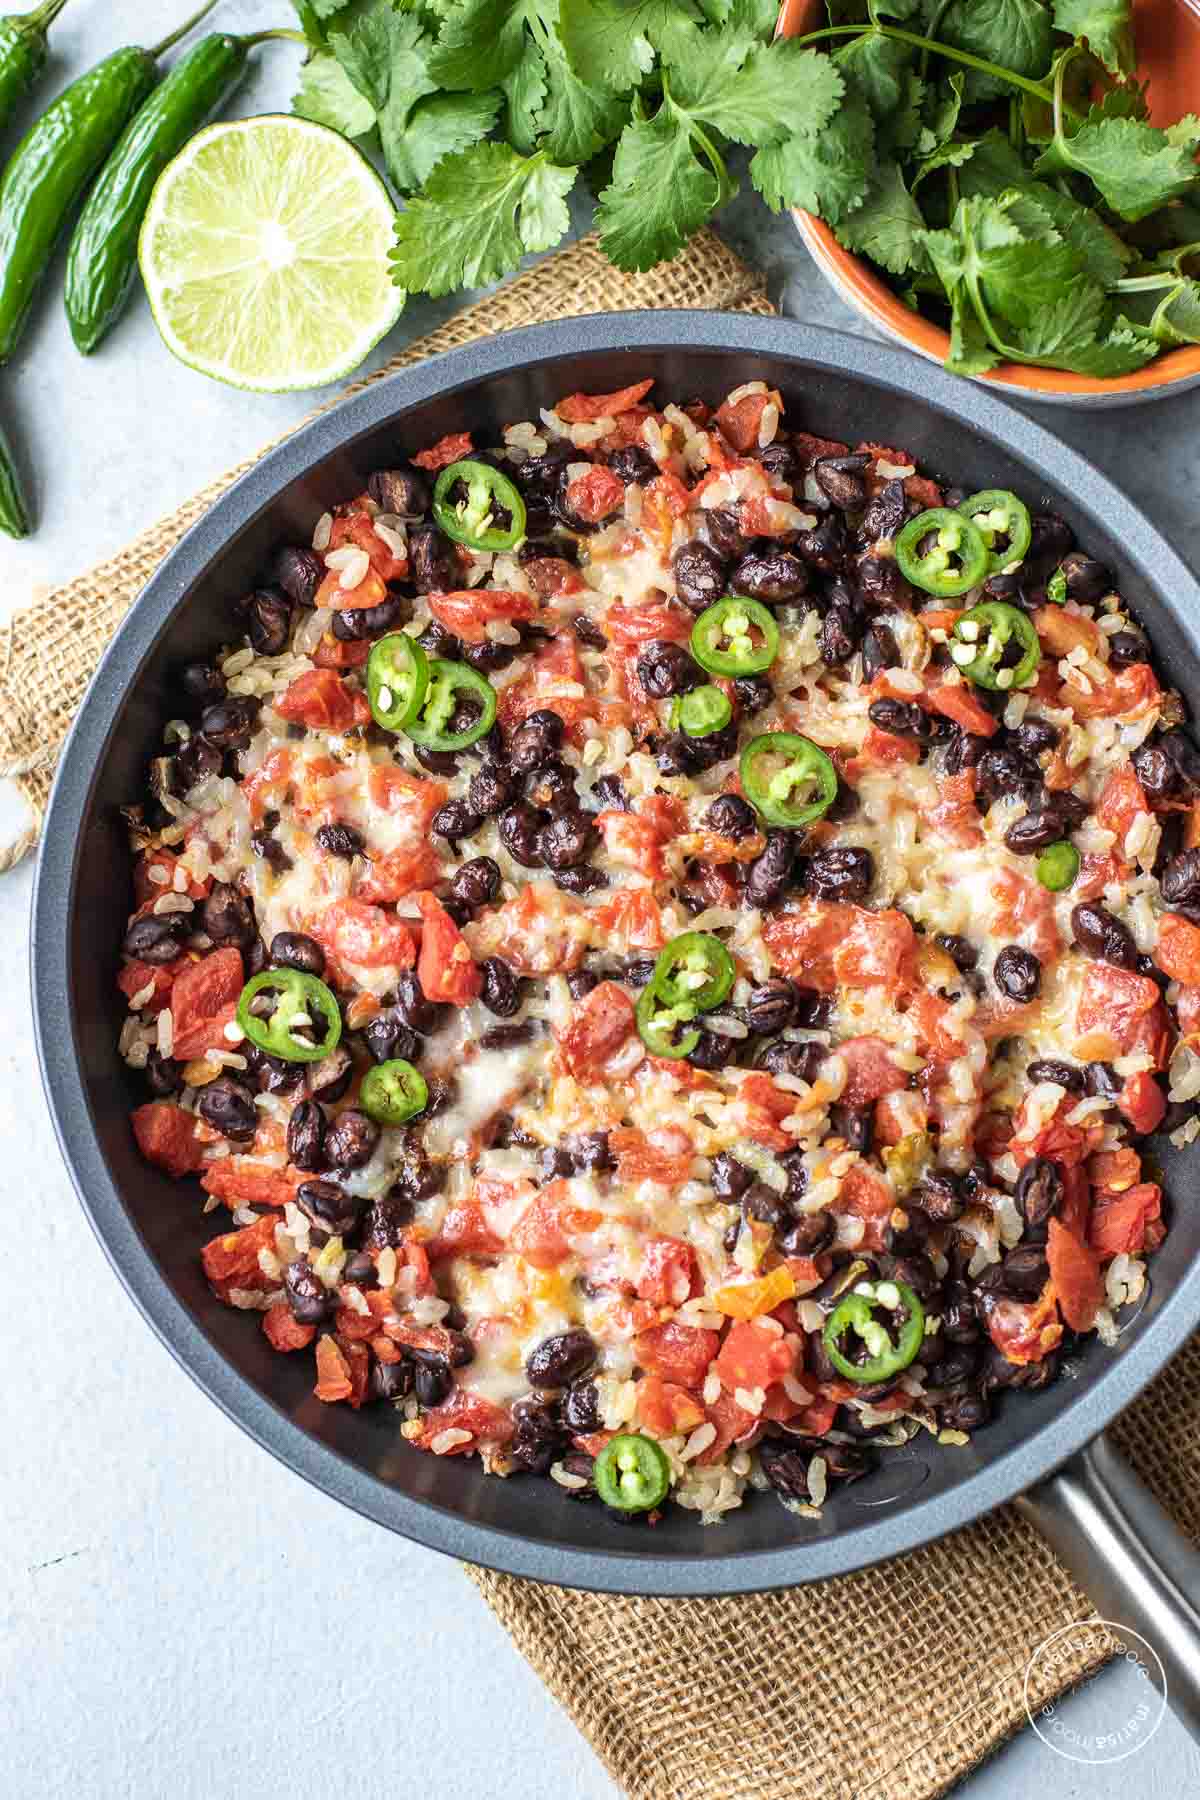
<path id="1" fill-rule="evenodd" d="M 1162 1658 L 1168 1705 L 1200 1739 L 1200 1552 L 1099 1436 L 1016 1507 L 1096 1602 Z M 1151 1670 L 1157 1683 L 1157 1670 Z"/>

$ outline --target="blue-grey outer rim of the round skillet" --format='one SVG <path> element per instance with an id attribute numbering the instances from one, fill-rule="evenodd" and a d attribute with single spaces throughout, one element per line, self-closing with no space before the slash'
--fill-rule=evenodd
<path id="1" fill-rule="evenodd" d="M 1200 1325 L 1200 1265 L 1160 1301 L 1137 1341 L 1099 1372 L 1078 1399 L 984 1467 L 905 1512 L 849 1534 L 813 1535 L 779 1550 L 691 1555 L 581 1552 L 479 1525 L 412 1499 L 356 1467 L 295 1424 L 228 1364 L 176 1298 L 126 1213 L 104 1163 L 77 1055 L 70 983 L 74 887 L 83 823 L 108 738 L 144 659 L 167 630 L 207 565 L 227 542 L 315 463 L 405 409 L 507 374 L 529 364 L 570 362 L 603 351 L 716 351 L 761 355 L 851 374 L 934 414 L 950 416 L 1020 457 L 1051 490 L 1069 491 L 1159 594 L 1200 657 L 1200 583 L 1168 540 L 1108 477 L 1042 425 L 973 383 L 930 369 L 910 353 L 784 319 L 700 310 L 596 313 L 527 326 L 446 351 L 374 382 L 270 450 L 193 526 L 122 621 L 104 653 L 61 752 L 32 895 L 31 979 L 38 1060 L 54 1132 L 92 1229 L 155 1334 L 221 1411 L 279 1462 L 354 1512 L 432 1550 L 534 1580 L 624 1595 L 720 1595 L 801 1586 L 887 1561 L 972 1523 L 1051 1474 L 1081 1449 L 1159 1373 Z M 1189 621 L 1191 614 L 1191 621 Z M 68 1030 L 63 1030 L 63 994 Z M 703 1543 L 711 1541 L 705 1534 Z"/>

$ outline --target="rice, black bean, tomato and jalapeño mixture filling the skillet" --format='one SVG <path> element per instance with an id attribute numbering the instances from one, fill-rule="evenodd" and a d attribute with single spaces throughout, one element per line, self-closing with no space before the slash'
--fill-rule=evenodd
<path id="1" fill-rule="evenodd" d="M 178 671 L 117 979 L 318 1400 L 711 1523 L 1115 1341 L 1200 756 L 1067 524 L 639 382 L 313 526 Z"/>

